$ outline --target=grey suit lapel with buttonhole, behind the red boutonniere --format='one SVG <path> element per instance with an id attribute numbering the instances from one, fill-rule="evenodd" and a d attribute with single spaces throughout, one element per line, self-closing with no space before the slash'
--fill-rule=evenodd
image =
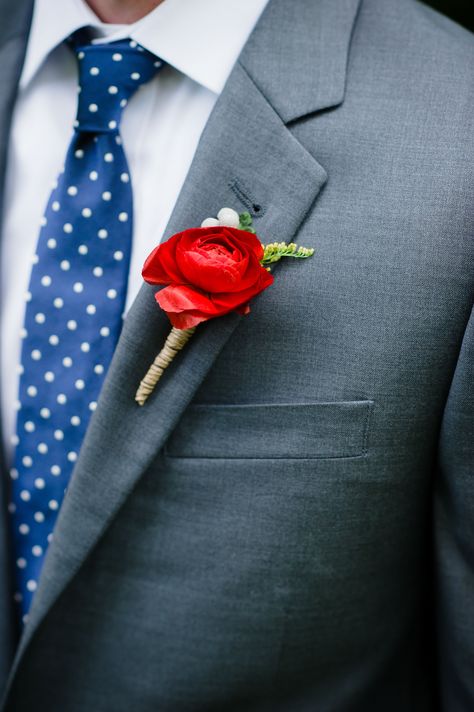
<path id="1" fill-rule="evenodd" d="M 301 0 L 298 4 L 311 14 L 315 5 L 330 2 Z M 353 21 L 358 2 L 338 0 L 337 4 L 348 8 L 340 29 L 347 45 L 347 16 Z M 324 169 L 281 119 L 282 114 L 294 113 L 294 108 L 291 97 L 285 103 L 276 85 L 288 82 L 294 67 L 287 64 L 275 76 L 271 57 L 275 38 L 284 33 L 288 21 L 287 5 L 271 0 L 254 33 L 260 41 L 251 39 L 235 66 L 203 133 L 166 236 L 199 225 L 203 218 L 230 206 L 253 213 L 262 241 L 291 241 L 324 185 Z M 278 24 L 282 13 L 283 25 Z M 314 38 L 308 37 L 307 43 L 313 47 Z M 345 61 L 345 54 L 338 61 L 332 56 L 332 66 L 337 66 L 333 76 L 343 74 L 340 67 L 345 68 Z M 326 94 L 310 97 L 305 112 L 342 101 L 340 82 L 338 86 L 337 96 L 331 84 Z M 278 111 L 269 101 L 272 94 Z M 12 675 L 34 631 L 162 448 L 240 319 L 230 314 L 200 325 L 146 406 L 139 408 L 134 402 L 136 387 L 170 329 L 153 290 L 147 285 L 142 288 L 125 321 L 73 473 Z"/>

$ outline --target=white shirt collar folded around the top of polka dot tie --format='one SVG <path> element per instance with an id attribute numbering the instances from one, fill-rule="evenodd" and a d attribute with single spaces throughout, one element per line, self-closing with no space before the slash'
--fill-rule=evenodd
<path id="1" fill-rule="evenodd" d="M 133 25 L 100 22 L 85 0 L 36 0 L 20 87 L 80 27 L 107 41 L 130 37 L 178 71 L 220 94 L 268 0 L 164 0 Z M 100 40 L 99 40 L 100 41 Z"/>

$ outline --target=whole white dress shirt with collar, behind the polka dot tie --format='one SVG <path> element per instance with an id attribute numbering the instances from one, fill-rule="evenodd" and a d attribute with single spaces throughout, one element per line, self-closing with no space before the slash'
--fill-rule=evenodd
<path id="1" fill-rule="evenodd" d="M 19 334 L 31 260 L 76 113 L 76 60 L 63 41 L 89 25 L 97 41 L 131 37 L 169 64 L 132 97 L 121 123 L 134 194 L 128 309 L 142 284 L 143 262 L 163 237 L 216 99 L 266 3 L 164 0 L 133 25 L 117 26 L 101 23 L 84 0 L 36 0 L 13 116 L 0 256 L 1 407 L 7 452 L 15 429 Z"/>

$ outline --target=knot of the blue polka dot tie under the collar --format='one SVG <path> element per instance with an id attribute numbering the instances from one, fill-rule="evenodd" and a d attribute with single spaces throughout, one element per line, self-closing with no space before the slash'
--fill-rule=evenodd
<path id="1" fill-rule="evenodd" d="M 163 62 L 130 39 L 79 44 L 73 38 L 72 44 L 79 64 L 76 131 L 118 131 L 128 100 Z"/>

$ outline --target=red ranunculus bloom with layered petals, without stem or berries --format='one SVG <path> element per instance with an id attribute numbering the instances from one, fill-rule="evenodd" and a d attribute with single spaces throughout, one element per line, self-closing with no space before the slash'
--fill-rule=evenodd
<path id="1" fill-rule="evenodd" d="M 193 228 L 158 245 L 143 267 L 149 284 L 166 284 L 155 299 L 173 326 L 189 329 L 236 310 L 270 286 L 272 275 L 260 264 L 256 235 L 232 227 Z"/>

